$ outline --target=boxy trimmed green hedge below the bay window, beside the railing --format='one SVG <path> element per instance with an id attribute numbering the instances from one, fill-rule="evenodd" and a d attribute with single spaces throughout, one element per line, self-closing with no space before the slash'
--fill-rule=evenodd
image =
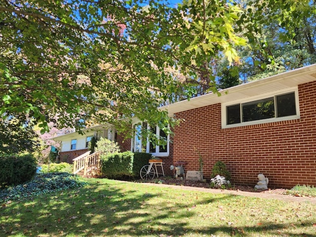
<path id="1" fill-rule="evenodd" d="M 139 177 L 140 169 L 152 157 L 148 153 L 113 153 L 101 155 L 102 175 L 107 178 Z"/>

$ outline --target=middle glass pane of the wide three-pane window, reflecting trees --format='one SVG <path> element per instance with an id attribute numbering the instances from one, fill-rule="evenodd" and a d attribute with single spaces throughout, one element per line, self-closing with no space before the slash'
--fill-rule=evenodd
<path id="1" fill-rule="evenodd" d="M 275 118 L 274 97 L 242 104 L 242 121 Z"/>

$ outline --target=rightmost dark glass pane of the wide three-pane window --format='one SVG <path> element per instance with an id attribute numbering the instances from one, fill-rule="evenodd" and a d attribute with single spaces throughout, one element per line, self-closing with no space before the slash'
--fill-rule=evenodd
<path id="1" fill-rule="evenodd" d="M 296 115 L 295 93 L 276 96 L 277 117 Z"/>

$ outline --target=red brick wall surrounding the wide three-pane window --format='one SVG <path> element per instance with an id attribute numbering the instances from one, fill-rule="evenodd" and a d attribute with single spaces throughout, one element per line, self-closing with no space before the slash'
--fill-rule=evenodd
<path id="1" fill-rule="evenodd" d="M 198 170 L 198 151 L 207 179 L 222 160 L 235 184 L 254 186 L 263 173 L 269 187 L 316 185 L 316 81 L 299 85 L 299 103 L 300 119 L 226 129 L 220 104 L 178 113 L 184 121 L 174 129 L 167 163 L 186 161 L 186 170 Z"/>

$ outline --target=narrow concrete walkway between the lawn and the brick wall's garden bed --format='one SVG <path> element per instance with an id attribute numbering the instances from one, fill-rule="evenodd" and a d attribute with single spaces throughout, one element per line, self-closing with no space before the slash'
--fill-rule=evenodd
<path id="1" fill-rule="evenodd" d="M 158 186 L 170 189 L 178 190 L 189 190 L 189 191 L 199 191 L 212 194 L 231 194 L 231 195 L 240 195 L 245 197 L 258 197 L 258 198 L 270 198 L 277 199 L 281 201 L 295 201 L 295 202 L 310 202 L 316 204 L 316 197 L 294 197 L 289 195 L 280 195 L 280 194 L 267 194 L 267 193 L 253 193 L 253 192 L 244 192 L 237 190 L 220 190 L 220 189 L 205 189 L 191 186 L 178 186 L 178 185 L 168 185 L 168 184 L 154 184 L 154 183 L 142 183 L 143 185 L 148 186 Z"/>

